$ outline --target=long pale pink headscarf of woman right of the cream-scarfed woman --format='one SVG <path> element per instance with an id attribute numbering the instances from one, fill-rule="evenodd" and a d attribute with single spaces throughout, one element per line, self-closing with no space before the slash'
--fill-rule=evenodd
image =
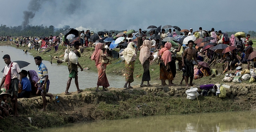
<path id="1" fill-rule="evenodd" d="M 143 64 L 150 56 L 151 42 L 149 40 L 144 40 L 140 48 L 140 62 Z"/>

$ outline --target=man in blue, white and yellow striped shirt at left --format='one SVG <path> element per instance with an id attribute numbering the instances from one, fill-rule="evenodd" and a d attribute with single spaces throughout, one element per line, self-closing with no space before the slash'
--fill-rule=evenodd
<path id="1" fill-rule="evenodd" d="M 41 95 L 43 98 L 43 109 L 40 111 L 46 111 L 46 97 L 48 96 L 50 97 L 50 100 L 52 102 L 52 94 L 48 94 L 48 90 L 49 90 L 49 85 L 50 85 L 50 80 L 48 78 L 48 69 L 46 68 L 46 66 L 42 63 L 42 58 L 41 56 L 36 56 L 34 57 L 35 63 L 36 65 L 38 65 L 38 77 L 39 80 L 38 82 L 35 84 L 38 85 L 40 84 L 40 86 L 38 87 L 38 91 L 36 92 L 36 94 L 38 94 L 38 92 L 42 91 Z"/>

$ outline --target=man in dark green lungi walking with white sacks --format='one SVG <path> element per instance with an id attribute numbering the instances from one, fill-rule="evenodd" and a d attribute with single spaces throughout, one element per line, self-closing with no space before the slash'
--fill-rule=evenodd
<path id="1" fill-rule="evenodd" d="M 77 51 L 79 49 L 79 46 L 80 46 L 80 43 L 76 41 L 74 43 L 74 48 L 72 50 L 76 54 L 76 56 L 81 57 L 80 53 Z M 67 82 L 67 87 L 66 87 L 66 91 L 65 91 L 66 95 L 71 94 L 70 92 L 68 92 L 68 89 L 70 87 L 72 78 L 75 78 L 77 93 L 83 92 L 83 90 L 80 90 L 79 86 L 78 86 L 78 68 L 77 68 L 77 66 L 80 67 L 81 71 L 83 71 L 83 68 L 79 64 L 78 61 L 76 61 L 76 62 L 77 62 L 77 64 L 74 64 L 74 63 L 71 63 L 71 62 L 68 64 L 69 76 L 68 76 L 68 82 Z"/>

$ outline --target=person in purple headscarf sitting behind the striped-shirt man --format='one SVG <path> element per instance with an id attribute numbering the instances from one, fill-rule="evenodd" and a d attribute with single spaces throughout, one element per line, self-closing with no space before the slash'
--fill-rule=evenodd
<path id="1" fill-rule="evenodd" d="M 39 80 L 38 76 L 37 76 L 37 72 L 35 70 L 28 70 L 28 77 L 29 77 L 29 81 L 31 83 L 32 86 L 32 94 L 36 94 L 37 88 L 38 86 L 35 86 L 35 84 L 37 83 L 37 81 Z"/>

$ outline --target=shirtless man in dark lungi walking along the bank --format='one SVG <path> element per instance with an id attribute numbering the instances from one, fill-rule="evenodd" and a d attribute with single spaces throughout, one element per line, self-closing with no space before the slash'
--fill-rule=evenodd
<path id="1" fill-rule="evenodd" d="M 196 63 L 199 65 L 198 61 L 196 60 L 196 50 L 193 49 L 194 41 L 188 41 L 188 47 L 183 53 L 182 57 L 182 67 L 186 66 L 186 72 L 183 72 L 183 76 L 186 82 L 187 88 L 189 86 L 193 86 L 192 81 L 194 77 L 194 65 L 193 65 L 193 58 Z M 190 84 L 188 85 L 188 77 L 190 77 Z"/>

